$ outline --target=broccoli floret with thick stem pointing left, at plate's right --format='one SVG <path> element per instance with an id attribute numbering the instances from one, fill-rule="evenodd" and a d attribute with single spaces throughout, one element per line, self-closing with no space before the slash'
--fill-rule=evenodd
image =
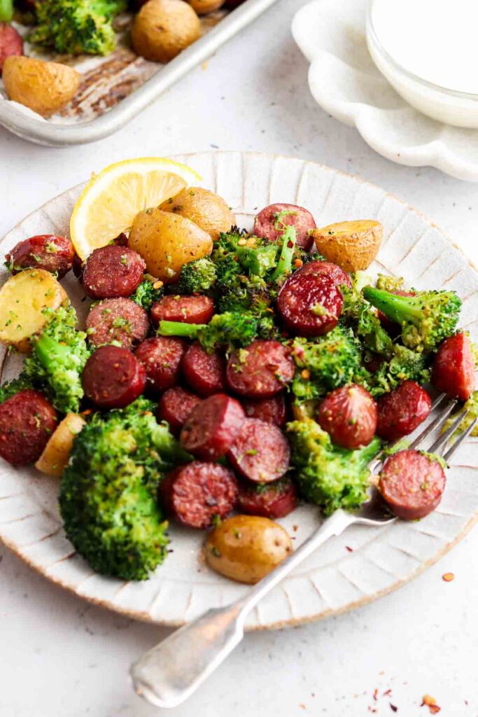
<path id="1" fill-rule="evenodd" d="M 462 302 L 454 291 L 420 291 L 397 296 L 365 287 L 363 296 L 401 326 L 405 346 L 415 351 L 436 351 L 441 341 L 457 328 Z"/>

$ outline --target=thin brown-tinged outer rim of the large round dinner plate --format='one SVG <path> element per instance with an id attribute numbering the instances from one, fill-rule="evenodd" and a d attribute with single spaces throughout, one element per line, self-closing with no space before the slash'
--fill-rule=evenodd
<path id="1" fill-rule="evenodd" d="M 180 159 L 181 161 L 188 162 L 188 161 L 192 161 L 193 158 L 195 158 L 197 156 L 218 156 L 218 155 L 224 156 L 224 155 L 236 155 L 237 153 L 239 153 L 242 158 L 244 158 L 244 157 L 266 158 L 269 161 L 274 161 L 277 158 L 281 158 L 286 161 L 287 160 L 292 160 L 292 161 L 299 160 L 299 161 L 302 161 L 304 166 L 306 166 L 307 164 L 311 164 L 313 166 L 319 167 L 320 169 L 322 169 L 324 171 L 330 172 L 330 174 L 340 175 L 347 179 L 351 179 L 351 180 L 357 182 L 358 184 L 362 184 L 364 186 L 369 186 L 369 187 L 371 187 L 371 189 L 378 189 L 378 190 L 382 191 L 385 194 L 385 196 L 388 196 L 391 199 L 398 201 L 400 204 L 405 206 L 409 212 L 411 212 L 412 214 L 416 214 L 418 217 L 420 217 L 422 220 L 424 220 L 424 222 L 426 222 L 426 224 L 428 224 L 429 227 L 433 227 L 434 229 L 439 231 L 440 234 L 444 237 L 444 239 L 446 239 L 446 242 L 449 243 L 452 247 L 454 247 L 455 250 L 458 250 L 458 252 L 462 255 L 462 257 L 467 262 L 469 267 L 471 267 L 472 270 L 474 270 L 474 272 L 478 275 L 477 267 L 474 265 L 474 262 L 472 262 L 472 260 L 469 259 L 466 252 L 464 252 L 464 250 L 462 250 L 462 247 L 459 247 L 459 245 L 456 242 L 454 242 L 451 239 L 451 237 L 449 237 L 448 234 L 446 234 L 446 232 L 444 232 L 443 229 L 441 229 L 441 227 L 439 227 L 437 224 L 432 222 L 431 219 L 429 219 L 429 217 L 426 214 L 424 214 L 424 212 L 421 212 L 419 209 L 415 209 L 413 206 L 408 204 L 408 202 L 404 201 L 403 199 L 400 199 L 399 197 L 391 194 L 388 191 L 385 191 L 384 189 L 381 188 L 381 186 L 374 184 L 370 181 L 367 181 L 360 176 L 351 174 L 349 172 L 345 172 L 340 169 L 330 167 L 328 165 L 325 165 L 323 163 L 316 162 L 313 160 L 304 159 L 304 158 L 300 158 L 297 156 L 282 155 L 279 153 L 240 151 L 240 150 L 239 151 L 205 150 L 205 151 L 198 151 L 198 152 L 188 152 L 188 153 L 184 153 L 181 155 L 171 155 L 168 158 L 176 159 L 176 160 Z M 34 214 L 37 214 L 37 212 L 41 212 L 42 209 L 45 209 L 49 204 L 51 204 L 54 201 L 57 201 L 62 196 L 70 194 L 70 192 L 78 190 L 82 186 L 85 186 L 85 184 L 87 184 L 87 181 L 80 182 L 79 184 L 76 184 L 75 186 L 72 186 L 69 189 L 66 189 L 66 190 L 60 192 L 59 194 L 53 196 L 51 199 L 45 201 L 42 205 L 38 206 L 37 209 L 34 209 L 34 210 L 32 210 L 32 212 L 29 212 L 29 214 L 27 214 L 25 217 L 23 217 L 19 222 L 16 222 L 14 227 L 11 227 L 11 229 L 9 229 L 9 231 L 6 232 L 6 234 L 4 234 L 4 237 L 1 237 L 0 247 L 9 238 L 9 235 L 12 232 L 15 232 L 16 229 L 19 229 L 21 227 L 21 224 L 26 222 L 27 219 L 32 217 Z M 244 213 L 244 212 L 242 212 L 242 213 Z M 4 352 L 4 356 L 5 355 L 6 355 L 6 352 Z M 1 369 L 3 369 L 3 364 L 4 364 L 4 356 L 0 357 L 0 361 L 1 361 L 0 377 L 1 377 Z M 411 571 L 411 573 L 408 574 L 406 576 L 406 578 L 399 578 L 396 581 L 393 581 L 393 583 L 389 584 L 387 587 L 385 587 L 383 589 L 379 589 L 376 592 L 373 592 L 373 594 L 364 594 L 362 597 L 360 597 L 359 599 L 357 599 L 353 602 L 348 602 L 347 604 L 345 604 L 341 607 L 335 607 L 335 608 L 331 607 L 331 608 L 323 609 L 318 614 L 305 615 L 305 616 L 301 616 L 301 617 L 291 617 L 290 619 L 287 619 L 287 620 L 279 620 L 276 622 L 269 622 L 265 625 L 264 624 L 247 625 L 246 630 L 247 630 L 247 632 L 255 632 L 255 631 L 259 631 L 259 630 L 281 630 L 285 627 L 296 627 L 297 625 L 305 625 L 309 622 L 318 622 L 320 619 L 325 619 L 327 617 L 333 617 L 334 615 L 340 615 L 345 612 L 350 612 L 353 609 L 357 609 L 358 607 L 362 607 L 363 605 L 369 604 L 369 603 L 375 601 L 376 599 L 379 599 L 391 592 L 394 592 L 396 589 L 401 587 L 403 584 L 406 584 L 406 583 L 414 580 L 417 576 L 419 576 L 419 574 L 424 572 L 430 566 L 434 565 L 437 561 L 439 561 L 439 559 L 441 559 L 444 555 L 446 555 L 446 553 L 448 553 L 451 550 L 451 548 L 453 548 L 455 545 L 457 545 L 457 543 L 459 543 L 459 541 L 462 541 L 462 539 L 465 536 L 467 536 L 467 533 L 469 533 L 469 531 L 471 531 L 473 526 L 476 525 L 477 523 L 478 523 L 478 508 L 476 509 L 476 511 L 474 511 L 474 514 L 469 517 L 469 519 L 464 524 L 464 526 L 462 526 L 462 529 L 459 531 L 459 533 L 457 533 L 457 535 L 455 535 L 453 538 L 451 538 L 450 541 L 445 543 L 444 546 L 442 546 L 439 551 L 436 551 L 436 553 L 433 556 L 431 556 L 431 558 L 421 561 L 419 566 L 417 566 L 414 571 Z M 58 528 L 58 530 L 61 530 L 61 528 Z M 57 531 L 55 531 L 55 532 L 57 532 Z M 64 579 L 59 578 L 57 576 L 52 576 L 51 574 L 49 574 L 47 572 L 49 566 L 41 566 L 41 565 L 37 564 L 34 561 L 34 559 L 32 559 L 30 556 L 25 554 L 24 551 L 22 551 L 22 546 L 17 545 L 14 540 L 4 536 L 2 533 L 3 533 L 2 526 L 0 524 L 0 541 L 2 543 L 4 543 L 4 545 L 12 553 L 14 553 L 14 555 L 19 557 L 19 559 L 21 559 L 22 561 L 24 561 L 24 563 L 26 563 L 30 568 L 32 568 L 34 571 L 36 571 L 37 573 L 42 575 L 45 579 L 47 579 L 52 584 L 55 584 L 55 585 L 61 587 L 62 589 L 66 589 L 68 592 L 74 594 L 76 597 L 78 597 L 80 599 L 87 601 L 90 604 L 95 604 L 97 607 L 110 609 L 113 612 L 122 614 L 124 617 L 128 617 L 130 619 L 135 619 L 140 622 L 148 622 L 151 625 L 158 625 L 160 627 L 176 628 L 176 627 L 181 627 L 182 625 L 185 625 L 187 622 L 186 620 L 183 620 L 183 619 L 181 619 L 181 620 L 161 619 L 161 617 L 153 619 L 153 617 L 151 617 L 150 613 L 145 612 L 144 610 L 130 609 L 128 607 L 123 607 L 120 604 L 115 604 L 115 603 L 111 602 L 110 599 L 102 599 L 102 598 L 87 595 L 87 594 L 80 594 L 79 592 L 77 592 L 77 589 L 74 586 L 72 586 L 71 584 L 68 584 L 67 581 L 65 581 Z M 94 573 L 94 574 L 96 574 L 96 573 Z"/>

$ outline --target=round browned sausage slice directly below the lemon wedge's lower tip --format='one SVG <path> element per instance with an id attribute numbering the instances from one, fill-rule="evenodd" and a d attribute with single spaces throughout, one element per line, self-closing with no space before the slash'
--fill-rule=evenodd
<path id="1" fill-rule="evenodd" d="M 140 285 L 146 264 L 138 252 L 117 244 L 95 249 L 86 260 L 83 286 L 92 299 L 130 296 Z"/>

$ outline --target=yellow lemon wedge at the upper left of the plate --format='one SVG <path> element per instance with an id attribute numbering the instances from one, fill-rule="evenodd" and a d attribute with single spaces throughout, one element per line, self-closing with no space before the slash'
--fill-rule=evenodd
<path id="1" fill-rule="evenodd" d="M 143 209 L 158 206 L 201 177 L 165 157 L 125 159 L 92 176 L 70 219 L 70 236 L 80 259 L 109 244 Z"/>

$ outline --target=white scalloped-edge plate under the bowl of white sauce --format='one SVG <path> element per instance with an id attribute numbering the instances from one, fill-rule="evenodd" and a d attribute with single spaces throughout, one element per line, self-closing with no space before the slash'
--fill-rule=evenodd
<path id="1" fill-rule="evenodd" d="M 387 159 L 478 181 L 478 130 L 431 120 L 397 94 L 368 54 L 367 5 L 368 0 L 312 0 L 295 15 L 292 34 L 311 63 L 313 97 Z"/>

